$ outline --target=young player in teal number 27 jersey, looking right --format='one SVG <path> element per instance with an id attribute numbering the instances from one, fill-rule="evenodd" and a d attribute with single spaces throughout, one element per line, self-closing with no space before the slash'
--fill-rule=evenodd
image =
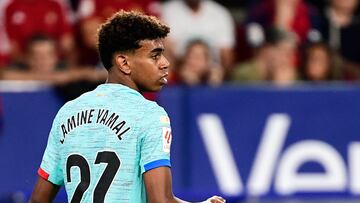
<path id="1" fill-rule="evenodd" d="M 59 110 L 30 202 L 51 202 L 62 185 L 69 202 L 184 202 L 172 193 L 169 118 L 141 95 L 167 83 L 168 33 L 158 19 L 125 11 L 100 27 L 107 83 Z"/>

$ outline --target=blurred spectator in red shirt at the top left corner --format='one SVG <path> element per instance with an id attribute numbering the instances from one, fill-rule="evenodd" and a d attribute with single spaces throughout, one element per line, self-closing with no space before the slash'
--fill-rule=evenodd
<path id="1" fill-rule="evenodd" d="M 67 10 L 55 0 L 12 0 L 5 11 L 12 59 L 22 60 L 25 44 L 35 34 L 59 41 L 61 53 L 70 58 L 74 42 L 68 16 Z"/>

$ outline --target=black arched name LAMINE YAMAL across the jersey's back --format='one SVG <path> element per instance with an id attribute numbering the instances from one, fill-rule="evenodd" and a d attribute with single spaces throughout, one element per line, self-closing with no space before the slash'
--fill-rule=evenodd
<path id="1" fill-rule="evenodd" d="M 97 113 L 97 115 L 94 115 L 94 112 Z M 63 138 L 60 140 L 61 144 L 64 143 L 66 136 L 72 130 L 84 124 L 91 123 L 102 124 L 109 127 L 120 140 L 122 139 L 122 135 L 130 130 L 128 126 L 124 127 L 126 121 L 120 119 L 120 116 L 116 113 L 110 112 L 107 109 L 87 109 L 70 116 L 61 124 L 61 131 L 63 133 Z"/>

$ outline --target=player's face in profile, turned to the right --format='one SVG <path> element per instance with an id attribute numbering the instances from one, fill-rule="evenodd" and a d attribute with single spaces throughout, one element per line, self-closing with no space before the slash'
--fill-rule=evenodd
<path id="1" fill-rule="evenodd" d="M 159 91 L 167 83 L 169 61 L 162 40 L 143 40 L 129 58 L 131 79 L 140 92 Z"/>

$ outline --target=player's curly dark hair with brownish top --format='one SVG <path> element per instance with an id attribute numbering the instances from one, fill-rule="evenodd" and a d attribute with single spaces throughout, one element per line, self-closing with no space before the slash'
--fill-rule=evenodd
<path id="1" fill-rule="evenodd" d="M 154 16 L 121 10 L 98 30 L 98 51 L 104 67 L 109 70 L 116 52 L 134 51 L 141 40 L 165 38 L 170 28 Z"/>

